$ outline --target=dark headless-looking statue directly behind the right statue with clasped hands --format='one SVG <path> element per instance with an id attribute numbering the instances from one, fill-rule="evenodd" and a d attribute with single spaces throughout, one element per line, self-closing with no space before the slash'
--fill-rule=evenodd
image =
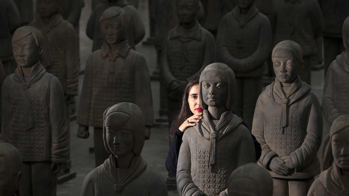
<path id="1" fill-rule="evenodd" d="M 304 68 L 299 76 L 311 85 L 311 55 L 316 53 L 316 39 L 321 35 L 323 26 L 318 1 L 273 0 L 269 18 L 274 46 L 283 40 L 292 40 L 302 47 Z"/>

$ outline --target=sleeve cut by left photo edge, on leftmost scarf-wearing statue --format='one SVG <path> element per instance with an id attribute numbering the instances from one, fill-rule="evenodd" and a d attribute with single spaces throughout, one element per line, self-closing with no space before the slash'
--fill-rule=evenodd
<path id="1" fill-rule="evenodd" d="M 1 89 L 1 134 L 0 141 L 9 142 L 9 122 L 10 122 L 10 77 L 8 76 L 2 83 Z"/>

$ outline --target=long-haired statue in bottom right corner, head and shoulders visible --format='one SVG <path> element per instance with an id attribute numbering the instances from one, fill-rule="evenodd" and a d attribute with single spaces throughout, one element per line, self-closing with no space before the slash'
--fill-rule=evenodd
<path id="1" fill-rule="evenodd" d="M 321 172 L 307 196 L 349 195 L 349 115 L 340 115 L 334 120 L 328 137 L 327 156 L 322 157 L 322 161 L 327 162 L 325 158 L 331 156 L 334 163 Z"/>

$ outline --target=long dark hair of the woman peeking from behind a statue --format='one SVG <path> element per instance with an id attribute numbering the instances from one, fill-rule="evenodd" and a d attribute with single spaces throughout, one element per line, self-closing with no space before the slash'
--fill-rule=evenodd
<path id="1" fill-rule="evenodd" d="M 190 116 L 194 115 L 190 111 L 190 107 L 188 104 L 188 98 L 189 98 L 189 91 L 190 89 L 195 85 L 199 84 L 200 76 L 195 76 L 191 81 L 188 82 L 187 86 L 184 90 L 184 95 L 182 97 L 182 106 L 180 108 L 179 113 L 174 117 L 174 121 L 172 123 L 172 127 L 169 131 L 169 142 L 171 144 L 174 135 L 176 134 L 178 128 L 182 125 L 182 123 L 189 118 Z"/>

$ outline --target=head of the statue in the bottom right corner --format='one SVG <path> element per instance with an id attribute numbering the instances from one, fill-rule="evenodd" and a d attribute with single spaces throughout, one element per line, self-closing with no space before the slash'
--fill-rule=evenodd
<path id="1" fill-rule="evenodd" d="M 338 116 L 329 134 L 334 163 L 349 172 L 349 115 Z"/>

